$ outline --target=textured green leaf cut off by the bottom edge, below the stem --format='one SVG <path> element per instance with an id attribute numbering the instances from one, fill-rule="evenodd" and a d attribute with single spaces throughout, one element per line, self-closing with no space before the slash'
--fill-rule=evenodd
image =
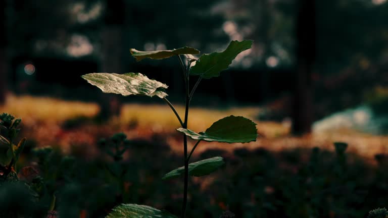
<path id="1" fill-rule="evenodd" d="M 177 218 L 167 211 L 138 204 L 121 204 L 113 208 L 106 218 Z"/>

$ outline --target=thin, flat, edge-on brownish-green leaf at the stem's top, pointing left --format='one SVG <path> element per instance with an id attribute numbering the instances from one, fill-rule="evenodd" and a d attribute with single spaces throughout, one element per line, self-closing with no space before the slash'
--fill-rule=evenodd
<path id="1" fill-rule="evenodd" d="M 156 50 L 156 51 L 139 51 L 131 48 L 131 54 L 136 58 L 136 61 L 141 61 L 145 58 L 150 59 L 165 59 L 175 55 L 197 55 L 199 50 L 192 47 L 181 47 L 173 50 Z"/>

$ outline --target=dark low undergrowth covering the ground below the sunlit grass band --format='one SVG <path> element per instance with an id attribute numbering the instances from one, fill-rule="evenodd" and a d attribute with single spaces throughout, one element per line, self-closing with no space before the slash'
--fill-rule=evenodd
<path id="1" fill-rule="evenodd" d="M 187 215 L 365 217 L 372 208 L 385 206 L 388 156 L 377 154 L 373 166 L 347 153 L 346 143 L 334 145 L 335 152 L 319 148 L 207 150 L 196 158 L 223 155 L 225 166 L 211 176 L 190 178 Z M 151 204 L 179 214 L 182 183 L 161 178 L 182 160 L 165 139 L 128 140 L 118 133 L 100 140 L 99 148 L 93 158 L 63 154 L 51 147 L 24 152 L 31 166 L 0 185 L 0 215 L 105 217 L 120 203 Z M 373 210 L 369 217 L 380 217 L 381 211 Z"/>

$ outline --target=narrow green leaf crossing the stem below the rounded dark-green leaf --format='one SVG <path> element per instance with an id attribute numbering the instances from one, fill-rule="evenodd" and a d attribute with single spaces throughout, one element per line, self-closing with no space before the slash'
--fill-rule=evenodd
<path id="1" fill-rule="evenodd" d="M 219 167 L 224 164 L 224 160 L 222 157 L 212 157 L 209 159 L 200 160 L 198 162 L 193 162 L 188 165 L 188 175 L 190 176 L 205 176 L 214 171 L 216 171 Z M 180 167 L 175 169 L 162 177 L 163 180 L 175 178 L 179 175 L 183 174 L 184 167 Z"/>

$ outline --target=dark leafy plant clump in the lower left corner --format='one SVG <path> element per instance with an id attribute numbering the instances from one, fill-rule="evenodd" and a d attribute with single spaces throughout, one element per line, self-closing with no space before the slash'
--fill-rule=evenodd
<path id="1" fill-rule="evenodd" d="M 38 171 L 31 166 L 15 169 L 26 138 L 14 144 L 20 132 L 21 119 L 7 113 L 0 114 L 0 217 L 46 217 L 53 211 L 56 198 L 44 198 L 44 183 Z M 49 203 L 50 207 L 49 207 Z"/>

